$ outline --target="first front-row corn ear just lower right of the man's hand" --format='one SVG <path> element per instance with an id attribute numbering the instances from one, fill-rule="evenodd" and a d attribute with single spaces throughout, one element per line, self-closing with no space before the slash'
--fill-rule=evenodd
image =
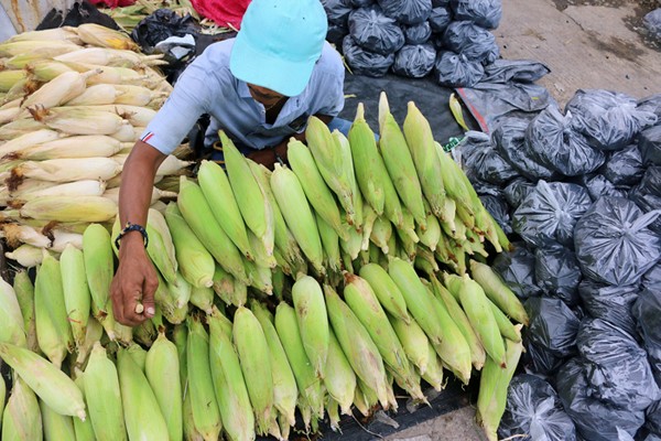
<path id="1" fill-rule="evenodd" d="M 174 343 L 165 337 L 164 329 L 147 353 L 144 374 L 167 423 L 170 439 L 182 439 L 182 389 L 178 381 L 172 381 L 180 376 L 178 355 Z"/>

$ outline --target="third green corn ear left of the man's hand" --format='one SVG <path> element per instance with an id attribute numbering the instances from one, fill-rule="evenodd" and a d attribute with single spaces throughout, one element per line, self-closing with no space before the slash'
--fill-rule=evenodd
<path id="1" fill-rule="evenodd" d="M 62 366 L 67 352 L 74 348 L 74 337 L 64 303 L 59 261 L 45 254 L 34 283 L 34 318 L 39 347 L 55 366 Z"/>

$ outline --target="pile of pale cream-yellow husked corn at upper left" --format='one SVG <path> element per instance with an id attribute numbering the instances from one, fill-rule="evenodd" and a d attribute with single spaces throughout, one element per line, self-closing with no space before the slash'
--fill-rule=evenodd
<path id="1" fill-rule="evenodd" d="M 136 50 L 95 24 L 0 44 L 0 218 L 12 247 L 28 244 L 20 262 L 80 246 L 89 223 L 115 218 L 123 161 L 172 88 L 151 67 L 158 56 Z M 188 164 L 169 157 L 158 179 Z M 154 187 L 154 203 L 175 196 Z"/>

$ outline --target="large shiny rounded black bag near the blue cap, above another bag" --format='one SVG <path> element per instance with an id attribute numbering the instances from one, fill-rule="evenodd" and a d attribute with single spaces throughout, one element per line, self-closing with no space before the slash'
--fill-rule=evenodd
<path id="1" fill-rule="evenodd" d="M 402 29 L 376 4 L 349 14 L 349 34 L 360 47 L 381 55 L 394 54 L 404 45 Z"/>

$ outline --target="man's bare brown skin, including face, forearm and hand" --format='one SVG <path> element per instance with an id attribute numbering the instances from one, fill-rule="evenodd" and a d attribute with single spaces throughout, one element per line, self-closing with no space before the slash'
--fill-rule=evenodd
<path id="1" fill-rule="evenodd" d="M 249 85 L 252 97 L 267 109 L 267 121 L 273 122 L 286 97 L 264 87 Z M 328 123 L 332 117 L 316 115 Z M 305 141 L 305 133 L 293 138 Z M 273 149 L 259 150 L 249 158 L 269 169 L 277 162 L 275 153 L 286 160 L 286 144 L 283 140 Z M 145 182 L 154 182 L 156 170 L 165 160 L 165 155 L 150 144 L 138 141 L 123 165 L 121 186 L 119 190 L 119 219 L 121 225 L 127 222 L 147 225 L 148 209 L 151 202 L 152 186 Z M 138 326 L 151 319 L 155 312 L 154 292 L 159 286 L 156 270 L 147 255 L 147 249 L 139 232 L 130 232 L 121 239 L 119 248 L 119 267 L 112 279 L 110 297 L 115 319 L 128 326 Z M 136 312 L 136 306 L 142 304 L 143 311 Z"/>

